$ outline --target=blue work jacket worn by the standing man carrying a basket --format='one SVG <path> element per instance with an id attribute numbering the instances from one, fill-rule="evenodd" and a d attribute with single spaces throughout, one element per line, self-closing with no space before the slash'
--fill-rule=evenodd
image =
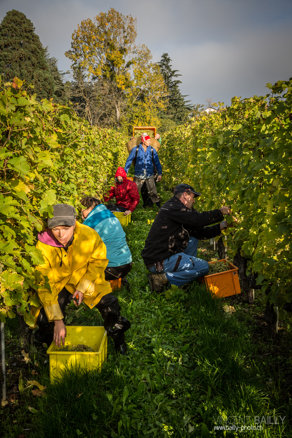
<path id="1" fill-rule="evenodd" d="M 131 150 L 130 155 L 127 158 L 126 164 L 125 164 L 125 172 L 128 173 L 128 170 L 130 169 L 131 162 L 135 158 L 136 155 L 136 146 Z M 161 164 L 157 155 L 157 152 L 155 148 L 153 148 L 153 161 L 155 163 L 158 175 L 162 175 L 162 168 Z M 135 177 L 139 178 L 144 175 L 144 169 L 146 170 L 146 178 L 151 178 L 154 173 L 153 169 L 153 163 L 152 163 L 152 153 L 151 153 L 151 146 L 148 146 L 146 149 L 146 152 L 144 152 L 144 148 L 142 146 L 142 143 L 139 145 L 138 154 L 137 154 L 137 160 L 135 165 Z"/>

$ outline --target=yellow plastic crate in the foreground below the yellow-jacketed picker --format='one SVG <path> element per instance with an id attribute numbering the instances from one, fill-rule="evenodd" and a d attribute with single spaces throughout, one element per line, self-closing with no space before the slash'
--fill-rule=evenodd
<path id="1" fill-rule="evenodd" d="M 69 325 L 66 327 L 65 346 L 85 344 L 93 348 L 91 351 L 63 351 L 51 343 L 47 350 L 49 354 L 49 376 L 51 383 L 61 377 L 61 371 L 69 364 L 80 364 L 87 369 L 101 368 L 107 357 L 107 333 L 104 327 Z"/>

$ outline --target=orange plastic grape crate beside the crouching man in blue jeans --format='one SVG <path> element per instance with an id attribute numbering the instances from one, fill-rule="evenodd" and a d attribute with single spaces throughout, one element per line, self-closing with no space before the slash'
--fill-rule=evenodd
<path id="1" fill-rule="evenodd" d="M 210 274 L 204 276 L 204 282 L 206 286 L 209 287 L 211 292 L 218 295 L 218 297 L 229 297 L 230 295 L 236 295 L 240 293 L 240 284 L 238 278 L 238 268 L 233 265 L 230 261 L 223 258 L 222 260 L 228 263 L 231 268 L 230 271 L 218 272 L 217 274 Z M 210 263 L 216 263 L 211 261 Z"/>

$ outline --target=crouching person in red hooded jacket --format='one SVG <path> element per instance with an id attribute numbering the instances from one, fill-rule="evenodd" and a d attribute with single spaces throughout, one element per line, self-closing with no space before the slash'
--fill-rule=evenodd
<path id="1" fill-rule="evenodd" d="M 110 188 L 103 199 L 110 201 L 115 197 L 116 204 L 108 204 L 106 208 L 111 211 L 124 212 L 124 215 L 127 216 L 134 212 L 140 201 L 137 185 L 134 181 L 127 180 L 127 173 L 123 167 L 118 167 L 115 177 L 116 184 Z"/>

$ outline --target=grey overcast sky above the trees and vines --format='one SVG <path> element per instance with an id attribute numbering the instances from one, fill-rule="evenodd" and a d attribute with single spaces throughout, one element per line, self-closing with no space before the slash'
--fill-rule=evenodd
<path id="1" fill-rule="evenodd" d="M 137 17 L 136 43 L 154 61 L 169 54 L 192 103 L 229 105 L 234 95 L 263 95 L 267 82 L 292 76 L 292 0 L 0 0 L 0 20 L 23 12 L 67 71 L 64 52 L 77 25 L 110 7 Z"/>

